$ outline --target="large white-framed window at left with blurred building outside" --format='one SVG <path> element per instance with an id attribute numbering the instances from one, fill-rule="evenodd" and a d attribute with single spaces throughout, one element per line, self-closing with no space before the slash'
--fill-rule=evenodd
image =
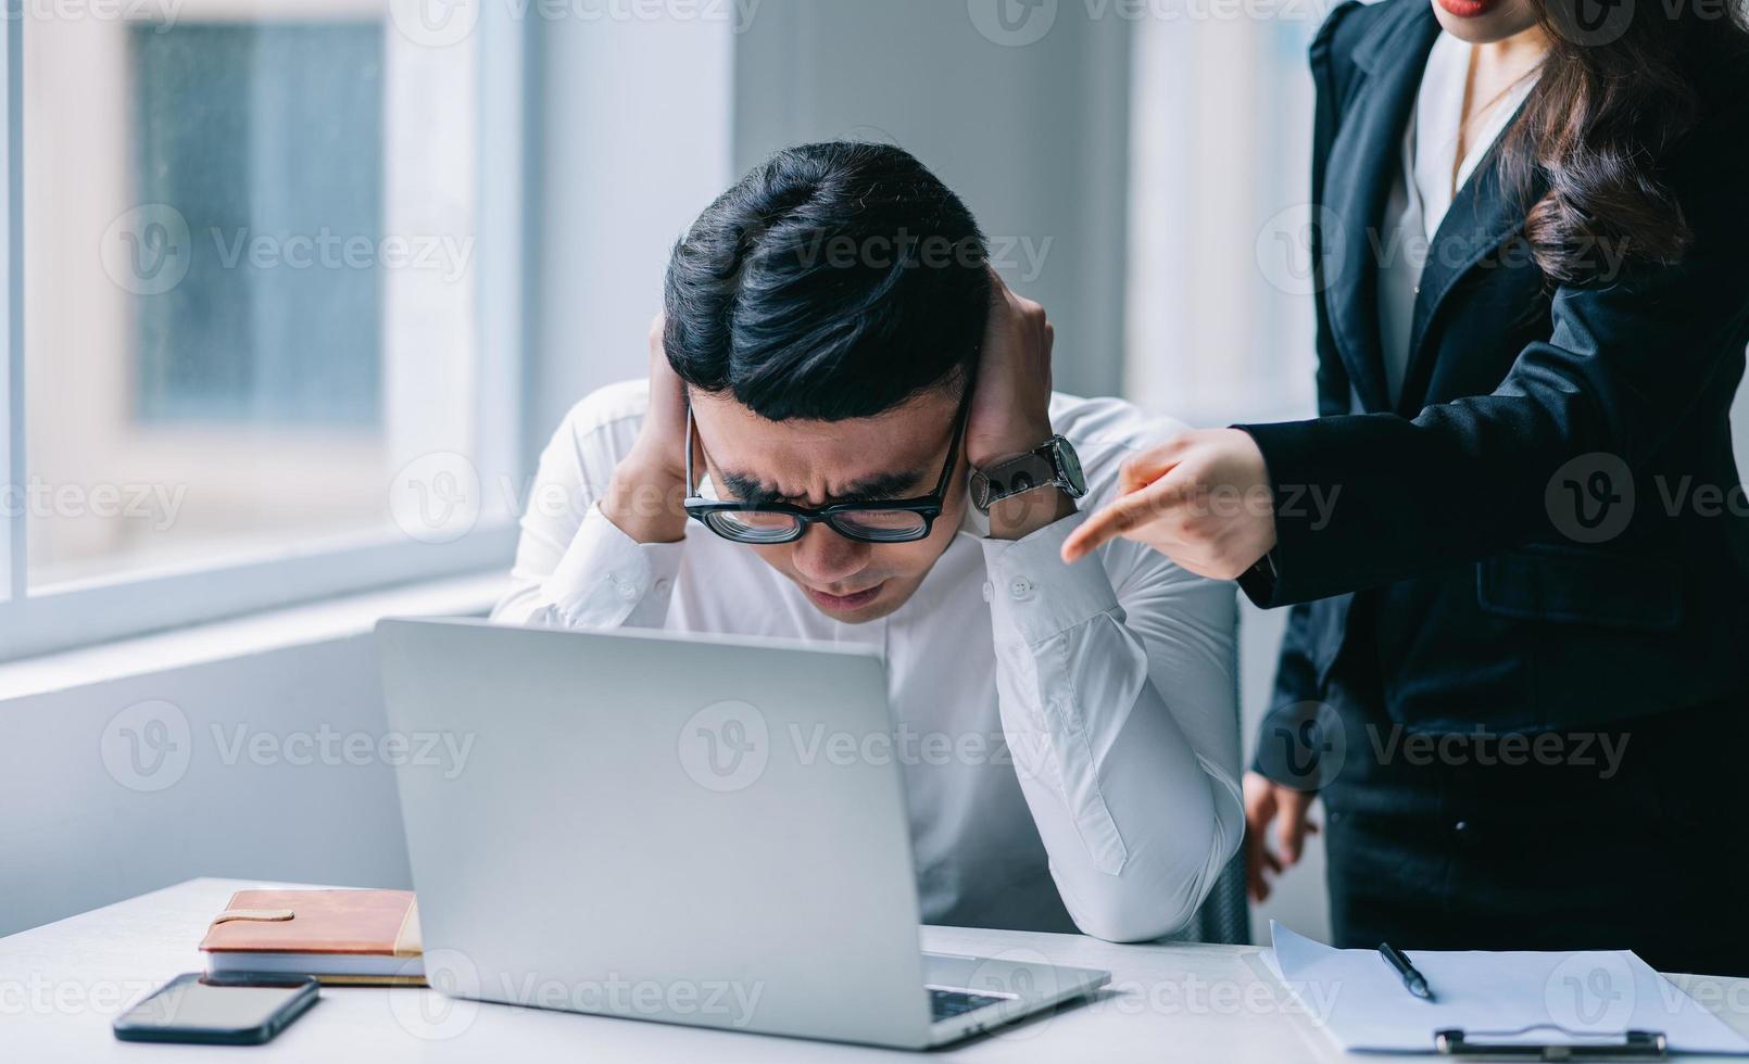
<path id="1" fill-rule="evenodd" d="M 9 21 L 0 659 L 507 564 L 519 159 L 483 159 L 519 124 L 519 30 L 493 17 Z"/>

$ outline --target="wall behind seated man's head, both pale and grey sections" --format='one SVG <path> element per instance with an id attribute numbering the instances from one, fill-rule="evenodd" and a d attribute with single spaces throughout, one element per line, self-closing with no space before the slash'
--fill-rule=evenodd
<path id="1" fill-rule="evenodd" d="M 899 143 L 1011 245 L 1002 273 L 1056 325 L 1058 386 L 1123 376 L 1128 26 L 1063 5 L 1037 44 L 985 38 L 964 3 L 763 0 L 745 21 L 533 26 L 542 204 L 525 446 L 642 372 L 668 252 L 778 147 Z M 854 42 L 854 45 L 847 44 Z"/>

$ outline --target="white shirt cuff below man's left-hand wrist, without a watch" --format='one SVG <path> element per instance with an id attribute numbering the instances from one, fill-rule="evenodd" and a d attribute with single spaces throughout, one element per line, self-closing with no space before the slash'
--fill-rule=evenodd
<path id="1" fill-rule="evenodd" d="M 656 625 L 668 613 L 680 549 L 638 543 L 602 514 L 584 514 L 577 535 L 546 582 L 546 598 L 575 627 Z M 642 620 L 640 620 L 642 618 Z"/>

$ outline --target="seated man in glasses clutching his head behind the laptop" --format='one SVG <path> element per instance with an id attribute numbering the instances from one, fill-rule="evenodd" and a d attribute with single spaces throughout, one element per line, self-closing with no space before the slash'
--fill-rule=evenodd
<path id="1" fill-rule="evenodd" d="M 675 246 L 649 379 L 553 437 L 493 618 L 878 646 L 923 919 L 1156 938 L 1240 842 L 1233 589 L 1058 549 L 1160 435 L 1051 391 L 916 159 L 784 150 Z"/>

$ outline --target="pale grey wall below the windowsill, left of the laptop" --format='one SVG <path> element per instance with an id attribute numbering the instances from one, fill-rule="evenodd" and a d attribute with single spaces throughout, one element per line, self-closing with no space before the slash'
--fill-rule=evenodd
<path id="1" fill-rule="evenodd" d="M 177 750 L 131 762 L 154 718 Z M 387 729 L 366 634 L 0 701 L 0 935 L 191 875 L 409 886 L 394 770 L 292 763 L 324 727 Z"/>

